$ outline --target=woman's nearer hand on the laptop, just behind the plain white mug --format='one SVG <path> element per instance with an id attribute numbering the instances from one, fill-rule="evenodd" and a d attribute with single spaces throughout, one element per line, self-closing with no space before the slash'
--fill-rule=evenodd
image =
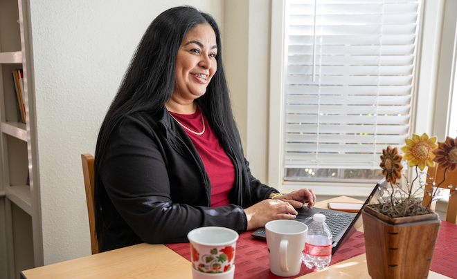
<path id="1" fill-rule="evenodd" d="M 246 213 L 248 221 L 247 231 L 265 227 L 265 224 L 271 220 L 293 220 L 298 214 L 289 202 L 271 199 L 262 200 L 253 206 L 249 206 L 244 209 L 244 213 Z"/>

